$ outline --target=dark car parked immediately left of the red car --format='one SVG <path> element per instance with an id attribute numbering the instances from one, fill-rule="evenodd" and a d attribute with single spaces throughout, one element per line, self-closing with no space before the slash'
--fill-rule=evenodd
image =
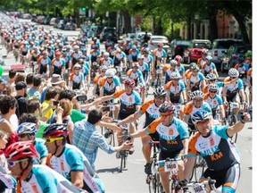
<path id="1" fill-rule="evenodd" d="M 176 55 L 183 57 L 184 51 L 190 44 L 190 40 L 173 39 L 170 42 L 170 49 L 168 48 L 167 55 L 174 58 Z"/>

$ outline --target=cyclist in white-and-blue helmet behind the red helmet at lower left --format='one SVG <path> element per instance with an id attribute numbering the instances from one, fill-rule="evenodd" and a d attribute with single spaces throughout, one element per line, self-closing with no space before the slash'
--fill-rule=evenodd
<path id="1" fill-rule="evenodd" d="M 34 164 L 46 164 L 46 157 L 48 155 L 47 148 L 45 146 L 45 140 L 42 138 L 36 138 L 37 125 L 33 122 L 22 122 L 17 129 L 19 141 L 33 141 L 33 144 L 39 155 L 38 159 L 33 159 Z"/>

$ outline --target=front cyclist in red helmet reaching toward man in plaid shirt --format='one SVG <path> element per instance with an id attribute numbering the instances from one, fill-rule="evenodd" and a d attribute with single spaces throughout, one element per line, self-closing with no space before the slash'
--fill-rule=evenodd
<path id="1" fill-rule="evenodd" d="M 159 160 L 177 158 L 187 155 L 188 151 L 188 130 L 185 122 L 174 117 L 175 107 L 164 102 L 159 107 L 160 118 L 154 120 L 145 130 L 138 130 L 130 134 L 130 138 L 138 138 L 155 131 L 159 134 L 160 154 Z M 164 163 L 159 164 L 159 172 L 162 180 L 162 187 L 165 192 L 170 192 L 170 172 L 164 172 Z M 184 179 L 184 162 L 178 161 L 178 179 Z"/>

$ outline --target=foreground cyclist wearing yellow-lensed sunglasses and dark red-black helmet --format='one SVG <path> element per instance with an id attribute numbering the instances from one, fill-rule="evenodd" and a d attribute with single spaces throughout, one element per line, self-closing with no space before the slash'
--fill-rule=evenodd
<path id="1" fill-rule="evenodd" d="M 46 147 L 51 155 L 47 165 L 64 178 L 88 192 L 104 192 L 104 184 L 78 147 L 67 144 L 68 129 L 65 124 L 49 125 L 44 131 Z"/>

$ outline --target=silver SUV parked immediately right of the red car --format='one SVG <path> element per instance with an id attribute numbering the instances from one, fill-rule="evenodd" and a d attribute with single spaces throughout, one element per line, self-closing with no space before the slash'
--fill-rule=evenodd
<path id="1" fill-rule="evenodd" d="M 240 44 L 242 45 L 242 39 L 234 38 L 219 38 L 214 39 L 211 45 L 209 54 L 212 56 L 212 62 L 220 65 L 222 51 L 227 51 L 229 46 Z"/>

